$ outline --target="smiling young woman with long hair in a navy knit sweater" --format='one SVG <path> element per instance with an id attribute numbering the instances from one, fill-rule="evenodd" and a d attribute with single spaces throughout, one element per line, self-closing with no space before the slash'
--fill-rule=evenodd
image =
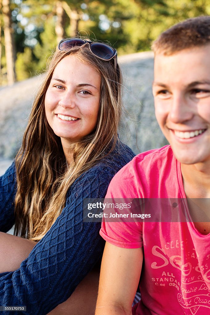
<path id="1" fill-rule="evenodd" d="M 79 38 L 61 41 L 15 163 L 0 178 L 0 231 L 15 223 L 16 235 L 0 233 L 0 305 L 47 314 L 101 257 L 100 223 L 83 222 L 83 199 L 103 198 L 134 156 L 117 135 L 121 87 L 115 49 Z M 84 305 L 93 278 L 85 279 L 67 300 L 69 314 L 92 312 Z M 80 286 L 85 294 L 75 311 Z M 53 312 L 64 314 L 65 307 Z"/>

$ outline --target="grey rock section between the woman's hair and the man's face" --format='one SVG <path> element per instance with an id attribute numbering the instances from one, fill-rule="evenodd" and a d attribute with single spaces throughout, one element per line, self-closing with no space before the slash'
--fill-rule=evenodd
<path id="1" fill-rule="evenodd" d="M 138 154 L 168 144 L 155 118 L 152 95 L 154 58 L 152 52 L 122 56 L 125 118 L 120 135 Z M 127 126 L 129 127 L 127 129 Z"/>

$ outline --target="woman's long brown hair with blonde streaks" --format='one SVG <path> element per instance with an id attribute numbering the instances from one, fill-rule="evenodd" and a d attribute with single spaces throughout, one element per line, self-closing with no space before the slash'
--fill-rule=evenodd
<path id="1" fill-rule="evenodd" d="M 73 146 L 73 162 L 67 166 L 61 139 L 47 122 L 44 100 L 59 61 L 74 54 L 101 75 L 101 98 L 96 130 Z M 39 241 L 61 214 L 69 187 L 117 144 L 121 116 L 122 76 L 114 60 L 95 57 L 90 49 L 75 47 L 56 51 L 32 106 L 22 146 L 16 156 L 15 235 Z"/>

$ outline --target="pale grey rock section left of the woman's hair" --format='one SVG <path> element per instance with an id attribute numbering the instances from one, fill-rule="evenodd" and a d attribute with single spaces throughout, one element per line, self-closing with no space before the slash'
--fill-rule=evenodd
<path id="1" fill-rule="evenodd" d="M 0 158 L 12 159 L 21 146 L 41 77 L 0 89 Z"/>

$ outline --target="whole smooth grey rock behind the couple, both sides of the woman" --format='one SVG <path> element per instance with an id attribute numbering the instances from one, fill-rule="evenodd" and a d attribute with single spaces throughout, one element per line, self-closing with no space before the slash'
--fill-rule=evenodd
<path id="1" fill-rule="evenodd" d="M 122 56 L 119 64 L 124 77 L 124 106 L 120 138 L 137 154 L 167 142 L 155 120 L 151 52 Z M 42 77 L 33 77 L 0 89 L 0 159 L 13 159 L 20 147 L 34 96 Z M 125 125 L 124 125 L 125 124 Z M 1 165 L 0 160 L 0 165 Z M 0 166 L 1 167 L 1 166 Z"/>

